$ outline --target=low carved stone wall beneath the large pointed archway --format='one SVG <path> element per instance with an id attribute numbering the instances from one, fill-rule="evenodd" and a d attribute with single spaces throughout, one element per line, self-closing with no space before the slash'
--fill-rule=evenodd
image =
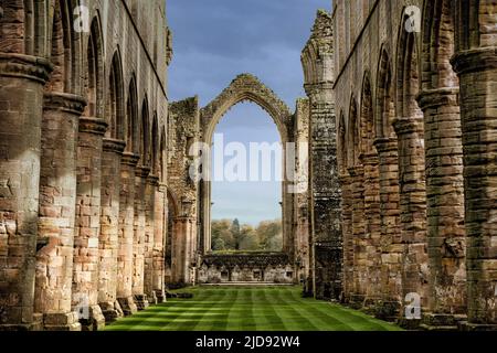
<path id="1" fill-rule="evenodd" d="M 296 276 L 286 254 L 212 254 L 203 257 L 198 281 L 294 284 Z"/>

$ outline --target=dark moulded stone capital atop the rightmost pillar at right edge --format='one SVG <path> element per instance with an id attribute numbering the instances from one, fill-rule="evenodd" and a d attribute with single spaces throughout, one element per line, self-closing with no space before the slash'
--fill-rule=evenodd
<path id="1" fill-rule="evenodd" d="M 451 60 L 454 71 L 461 76 L 467 73 L 497 68 L 497 46 L 477 47 L 456 53 Z"/>

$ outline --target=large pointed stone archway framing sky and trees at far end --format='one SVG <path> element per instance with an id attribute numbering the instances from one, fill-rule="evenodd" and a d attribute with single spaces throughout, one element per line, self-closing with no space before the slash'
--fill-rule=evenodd
<path id="1" fill-rule="evenodd" d="M 278 258 L 285 258 L 285 263 L 293 264 L 294 242 L 292 239 L 292 197 L 288 193 L 286 175 L 287 143 L 292 142 L 289 128 L 292 128 L 292 113 L 286 104 L 275 93 L 266 87 L 258 78 L 250 74 L 239 75 L 214 100 L 200 110 L 200 129 L 202 142 L 212 146 L 215 127 L 230 108 L 242 101 L 251 101 L 260 106 L 274 120 L 281 137 L 283 151 L 282 182 L 282 225 L 283 225 L 283 254 Z M 210 175 L 211 158 L 204 160 L 204 174 Z M 203 180 L 199 192 L 199 249 L 202 255 L 211 252 L 211 181 Z M 282 255 L 286 255 L 282 257 Z M 255 256 L 255 255 L 254 255 Z M 264 257 L 268 255 L 265 254 Z M 287 265 L 287 264 L 283 264 Z"/>

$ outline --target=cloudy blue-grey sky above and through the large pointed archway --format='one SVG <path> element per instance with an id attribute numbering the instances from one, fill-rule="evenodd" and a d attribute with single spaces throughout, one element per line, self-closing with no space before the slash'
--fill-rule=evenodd
<path id="1" fill-rule="evenodd" d="M 330 0 L 168 0 L 175 56 L 169 69 L 170 100 L 199 95 L 202 106 L 241 73 L 251 73 L 290 108 L 305 96 L 300 51 L 318 9 Z M 215 133 L 225 143 L 279 141 L 271 117 L 254 104 L 233 107 Z M 225 161 L 231 158 L 226 157 Z M 257 224 L 281 217 L 281 184 L 214 182 L 212 217 Z"/>

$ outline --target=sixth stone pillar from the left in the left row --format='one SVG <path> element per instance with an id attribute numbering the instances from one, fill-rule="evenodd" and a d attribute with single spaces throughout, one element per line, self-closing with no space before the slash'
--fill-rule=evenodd
<path id="1" fill-rule="evenodd" d="M 148 307 L 145 293 L 145 242 L 147 226 L 147 178 L 150 168 L 138 165 L 135 174 L 135 235 L 133 242 L 133 297 L 138 310 Z"/>

